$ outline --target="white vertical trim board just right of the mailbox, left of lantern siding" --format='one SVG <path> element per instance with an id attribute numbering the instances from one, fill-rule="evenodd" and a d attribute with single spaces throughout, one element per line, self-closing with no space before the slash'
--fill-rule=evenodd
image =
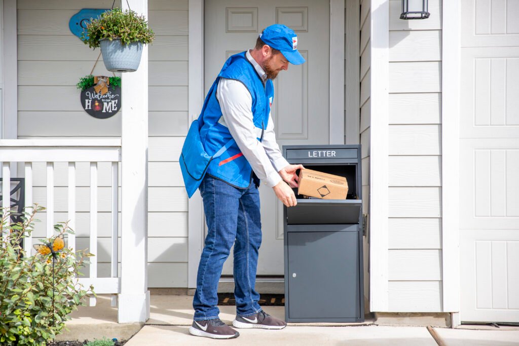
<path id="1" fill-rule="evenodd" d="M 370 310 L 389 309 L 389 0 L 371 2 Z"/>

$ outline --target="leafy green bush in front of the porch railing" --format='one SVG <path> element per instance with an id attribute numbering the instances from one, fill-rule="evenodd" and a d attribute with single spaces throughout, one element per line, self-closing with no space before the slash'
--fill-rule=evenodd
<path id="1" fill-rule="evenodd" d="M 54 263 L 52 285 L 52 255 L 30 256 L 21 247 L 25 233 L 34 229 L 35 214 L 45 208 L 35 204 L 24 211 L 23 222 L 10 223 L 12 212 L 2 211 L 4 237 L 0 240 L 0 344 L 2 346 L 45 344 L 65 327 L 69 314 L 84 305 L 86 290 L 77 283 L 79 268 L 87 261 L 84 251 L 74 253 L 64 247 Z M 31 212 L 28 212 L 30 210 Z M 67 223 L 59 223 L 54 230 L 73 234 Z M 54 238 L 53 238 L 54 239 Z M 49 242 L 49 239 L 45 240 Z M 52 293 L 54 306 L 52 307 Z"/>

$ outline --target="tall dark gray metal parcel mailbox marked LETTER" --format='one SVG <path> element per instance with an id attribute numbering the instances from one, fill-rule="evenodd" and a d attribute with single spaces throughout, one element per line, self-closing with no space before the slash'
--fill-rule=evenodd
<path id="1" fill-rule="evenodd" d="M 348 181 L 345 200 L 296 195 L 283 209 L 285 321 L 363 322 L 361 147 L 291 145 L 283 155 Z"/>

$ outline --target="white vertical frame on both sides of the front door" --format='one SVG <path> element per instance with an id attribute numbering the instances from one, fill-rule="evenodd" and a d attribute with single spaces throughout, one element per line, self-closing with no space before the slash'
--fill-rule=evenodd
<path id="1" fill-rule="evenodd" d="M 345 142 L 345 103 L 344 103 L 344 9 L 345 1 L 330 0 L 330 144 Z M 188 123 L 195 120 L 204 100 L 204 0 L 189 0 L 188 4 Z M 356 13 L 349 13 L 354 16 Z M 357 13 L 358 14 L 358 13 Z M 359 52 L 357 51 L 357 54 Z M 358 64 L 359 59 L 348 61 Z M 358 86 L 360 89 L 360 85 Z M 354 114 L 352 114 L 354 117 Z M 346 123 L 355 123 L 346 120 Z M 359 120 L 357 120 L 357 124 Z M 332 126 L 333 124 L 333 126 Z M 358 128 L 358 126 L 357 126 Z M 357 132 L 359 129 L 357 129 Z M 357 134 L 358 137 L 358 134 Z M 188 200 L 188 262 L 187 287 L 196 287 L 198 262 L 203 249 L 203 205 L 201 197 L 195 195 Z"/>

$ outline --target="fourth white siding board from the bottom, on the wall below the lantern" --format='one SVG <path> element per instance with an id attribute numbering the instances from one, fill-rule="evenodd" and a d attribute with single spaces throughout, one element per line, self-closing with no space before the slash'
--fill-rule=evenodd
<path id="1" fill-rule="evenodd" d="M 441 217 L 440 187 L 390 187 L 389 217 Z"/>

